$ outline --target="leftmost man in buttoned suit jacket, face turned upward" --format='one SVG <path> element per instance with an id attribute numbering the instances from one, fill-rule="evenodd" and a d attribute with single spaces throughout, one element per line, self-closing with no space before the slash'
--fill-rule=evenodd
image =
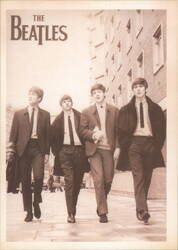
<path id="1" fill-rule="evenodd" d="M 28 92 L 27 108 L 15 112 L 9 141 L 14 145 L 18 157 L 20 181 L 24 210 L 27 211 L 25 221 L 33 219 L 31 173 L 34 179 L 34 215 L 41 217 L 39 203 L 42 202 L 41 191 L 44 177 L 44 163 L 48 161 L 50 145 L 50 114 L 39 108 L 43 98 L 43 90 L 32 87 Z"/>

